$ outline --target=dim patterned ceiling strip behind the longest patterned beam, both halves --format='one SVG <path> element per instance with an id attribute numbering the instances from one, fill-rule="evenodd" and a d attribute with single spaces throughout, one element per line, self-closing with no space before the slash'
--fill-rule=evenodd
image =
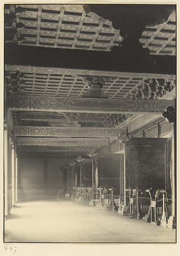
<path id="1" fill-rule="evenodd" d="M 70 114 L 42 111 L 12 111 L 14 125 L 17 126 L 59 126 L 67 123 Z M 74 113 L 81 127 L 116 127 L 129 118 L 129 114 Z"/>

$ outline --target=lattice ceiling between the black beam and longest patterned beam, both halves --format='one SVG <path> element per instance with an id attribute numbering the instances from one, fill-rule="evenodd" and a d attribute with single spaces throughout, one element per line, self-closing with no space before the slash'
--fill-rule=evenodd
<path id="1" fill-rule="evenodd" d="M 14 71 L 5 74 L 6 79 L 12 84 L 12 75 Z M 70 76 L 65 74 L 51 74 L 51 73 L 23 73 L 21 72 L 21 85 L 23 90 L 9 90 L 10 94 L 23 94 L 34 96 L 65 96 L 65 97 L 80 97 L 83 93 L 87 93 L 88 84 L 81 75 Z M 143 78 L 129 78 L 129 77 L 100 77 L 105 81 L 103 85 L 104 94 L 109 96 L 109 99 L 129 98 L 133 95 L 133 91 L 143 91 L 143 84 L 146 79 Z M 10 82 L 11 81 L 11 82 Z M 175 84 L 175 81 L 174 81 Z M 9 85 L 11 89 L 11 85 Z M 163 94 L 168 91 L 164 90 Z M 137 93 L 134 93 L 136 97 Z M 156 95 L 159 99 L 162 95 Z"/>

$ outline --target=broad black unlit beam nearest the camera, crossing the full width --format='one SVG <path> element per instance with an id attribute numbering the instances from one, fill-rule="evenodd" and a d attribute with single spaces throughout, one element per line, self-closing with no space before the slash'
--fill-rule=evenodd
<path id="1" fill-rule="evenodd" d="M 149 55 L 149 59 L 155 59 L 156 64 L 153 64 L 145 56 L 133 57 L 131 55 L 122 55 L 122 53 L 121 47 L 113 47 L 112 52 L 101 52 L 23 46 L 9 43 L 5 45 L 4 55 L 6 56 L 5 64 L 9 64 L 11 67 L 14 65 L 36 66 L 43 70 L 48 63 L 49 67 L 51 67 L 49 68 L 50 73 L 53 68 L 57 68 L 59 69 L 58 73 L 60 70 L 65 69 L 70 75 L 73 71 L 77 73 L 77 70 L 79 70 L 79 74 L 82 74 L 81 71 L 84 70 L 86 75 L 103 76 L 105 74 L 105 76 L 114 76 L 114 72 L 117 72 L 118 76 L 120 76 L 120 74 L 129 73 L 129 70 L 131 70 L 131 73 L 141 72 L 144 75 L 146 74 L 146 79 L 148 74 L 176 74 L 176 56 Z M 156 76 L 153 76 L 153 78 L 156 78 Z M 166 77 L 163 76 L 163 78 Z"/>

